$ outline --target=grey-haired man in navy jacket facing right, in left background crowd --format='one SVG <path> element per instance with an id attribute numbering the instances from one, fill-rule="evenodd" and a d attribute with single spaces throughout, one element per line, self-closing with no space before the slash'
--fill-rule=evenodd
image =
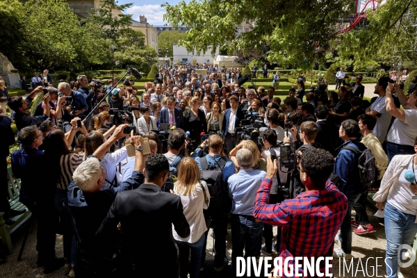
<path id="1" fill-rule="evenodd" d="M 72 118 L 76 116 L 83 118 L 84 112 L 88 110 L 88 105 L 83 95 L 80 92 L 71 90 L 70 84 L 66 82 L 58 84 L 58 91 L 65 95 L 66 103 L 63 107 L 64 129 L 65 131 L 70 131 Z"/>

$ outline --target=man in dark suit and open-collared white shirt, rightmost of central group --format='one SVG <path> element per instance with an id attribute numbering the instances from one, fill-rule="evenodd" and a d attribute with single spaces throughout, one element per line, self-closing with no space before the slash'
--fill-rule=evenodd
<path id="1" fill-rule="evenodd" d="M 222 126 L 227 152 L 231 152 L 238 145 L 238 136 L 235 129 L 239 126 L 240 121 L 245 119 L 245 115 L 243 115 L 242 110 L 238 107 L 238 97 L 229 97 L 229 103 L 230 108 L 224 112 L 226 124 Z"/>

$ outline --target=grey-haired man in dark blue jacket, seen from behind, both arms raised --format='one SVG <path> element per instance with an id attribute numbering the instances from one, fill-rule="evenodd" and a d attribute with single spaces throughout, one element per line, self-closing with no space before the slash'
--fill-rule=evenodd
<path id="1" fill-rule="evenodd" d="M 132 176 L 117 188 L 101 190 L 106 173 L 100 165 L 99 158 L 115 142 L 115 136 L 124 136 L 120 133 L 122 129 L 118 131 L 101 145 L 93 156 L 77 167 L 73 175 L 74 181 L 68 188 L 69 208 L 76 231 L 76 277 L 108 277 L 114 268 L 117 269 L 114 263 L 117 260 L 114 260 L 112 255 L 117 252 L 116 245 L 120 237 L 115 236 L 110 238 L 110 242 L 103 243 L 97 240 L 95 234 L 106 218 L 117 193 L 138 188 L 145 181 L 142 170 L 148 155 L 142 155 L 141 151 L 136 150 L 135 171 Z M 133 136 L 132 132 L 130 142 L 134 147 L 138 147 L 142 138 Z M 105 252 L 101 252 L 101 246 L 106 247 Z"/>

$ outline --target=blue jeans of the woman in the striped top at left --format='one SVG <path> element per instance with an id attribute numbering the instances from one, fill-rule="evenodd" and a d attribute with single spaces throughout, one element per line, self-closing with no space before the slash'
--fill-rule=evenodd
<path id="1" fill-rule="evenodd" d="M 63 229 L 63 247 L 65 261 L 71 260 L 74 268 L 76 258 L 76 241 L 74 236 L 74 225 L 70 208 L 68 208 L 68 190 L 57 189 L 55 193 L 55 208 L 59 214 L 60 226 Z"/>

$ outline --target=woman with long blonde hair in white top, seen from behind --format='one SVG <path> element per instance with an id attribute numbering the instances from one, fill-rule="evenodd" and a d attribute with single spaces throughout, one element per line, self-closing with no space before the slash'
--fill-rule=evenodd
<path id="1" fill-rule="evenodd" d="M 174 183 L 174 193 L 181 197 L 183 212 L 190 224 L 190 236 L 181 238 L 174 227 L 172 234 L 179 249 L 180 277 L 187 277 L 188 256 L 191 252 L 189 265 L 190 278 L 197 278 L 202 259 L 202 249 L 206 239 L 206 221 L 203 209 L 208 208 L 210 193 L 205 181 L 199 181 L 200 172 L 197 162 L 193 158 L 182 159 L 178 170 L 178 179 Z"/>

